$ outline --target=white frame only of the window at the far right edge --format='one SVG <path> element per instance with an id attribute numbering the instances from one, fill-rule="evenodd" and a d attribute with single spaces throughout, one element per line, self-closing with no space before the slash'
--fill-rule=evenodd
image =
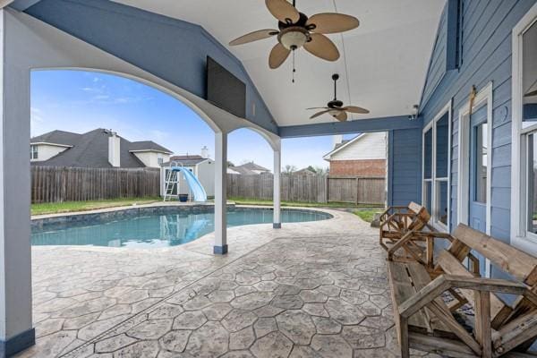
<path id="1" fill-rule="evenodd" d="M 537 124 L 522 127 L 523 120 L 523 35 L 537 21 L 537 4 L 513 28 L 512 73 L 512 137 L 511 137 L 511 244 L 537 255 L 537 235 L 527 226 L 527 134 L 537 130 Z"/>

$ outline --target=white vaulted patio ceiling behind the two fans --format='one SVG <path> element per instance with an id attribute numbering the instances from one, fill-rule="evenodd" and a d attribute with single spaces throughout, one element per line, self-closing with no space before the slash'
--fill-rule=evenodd
<path id="1" fill-rule="evenodd" d="M 353 119 L 408 115 L 418 104 L 430 53 L 445 0 L 297 0 L 299 11 L 348 13 L 358 29 L 328 35 L 339 48 L 335 63 L 316 58 L 303 49 L 296 53 L 295 83 L 291 57 L 277 70 L 268 68 L 268 53 L 277 43 L 268 38 L 239 47 L 227 44 L 247 32 L 277 29 L 263 0 L 115 0 L 197 23 L 217 38 L 242 62 L 265 99 L 277 124 L 334 122 L 329 115 L 315 120 L 307 107 L 324 107 L 333 97 L 331 75 L 338 72 L 338 98 L 370 109 Z M 343 41 L 343 42 L 342 42 Z"/>

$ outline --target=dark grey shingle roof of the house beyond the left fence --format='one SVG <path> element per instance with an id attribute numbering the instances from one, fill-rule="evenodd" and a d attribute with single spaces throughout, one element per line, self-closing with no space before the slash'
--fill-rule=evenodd
<path id="1" fill-rule="evenodd" d="M 47 142 L 54 144 L 70 145 L 72 148 L 64 150 L 55 157 L 44 161 L 32 162 L 37 166 L 72 166 L 72 167 L 112 167 L 108 162 L 108 137 L 110 132 L 98 128 L 83 134 L 53 131 L 39 135 L 31 139 L 30 143 Z M 119 137 L 119 136 L 118 136 Z M 134 154 L 129 152 L 133 143 L 153 143 L 148 145 L 148 150 L 152 148 L 162 148 L 152 141 L 131 142 L 120 138 L 120 164 L 121 167 L 145 167 L 145 165 Z M 136 145 L 136 148 L 142 148 Z M 152 149 L 154 150 L 154 149 Z M 159 150 L 164 151 L 164 150 Z M 166 149 L 166 152 L 170 152 Z"/>

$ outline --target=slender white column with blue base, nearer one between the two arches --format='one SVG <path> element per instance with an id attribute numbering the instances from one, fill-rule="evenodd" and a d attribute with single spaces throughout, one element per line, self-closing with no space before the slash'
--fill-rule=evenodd
<path id="1" fill-rule="evenodd" d="M 214 253 L 227 253 L 227 133 L 215 134 L 215 245 Z"/>

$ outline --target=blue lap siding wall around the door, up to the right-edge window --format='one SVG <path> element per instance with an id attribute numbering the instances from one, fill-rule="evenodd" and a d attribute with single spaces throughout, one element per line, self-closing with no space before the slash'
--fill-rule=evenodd
<path id="1" fill-rule="evenodd" d="M 447 71 L 445 58 L 449 44 L 447 9 L 439 24 L 438 38 L 422 95 L 423 125 L 430 123 L 440 109 L 452 102 L 450 163 L 450 224 L 458 224 L 458 166 L 462 156 L 459 142 L 459 111 L 467 106 L 471 86 L 477 91 L 492 86 L 492 141 L 490 143 L 490 234 L 510 243 L 511 215 L 511 131 L 512 131 L 512 30 L 536 0 L 462 0 L 462 64 Z M 468 205 L 461 202 L 461 205 Z M 502 276 L 492 267 L 492 277 Z"/>

